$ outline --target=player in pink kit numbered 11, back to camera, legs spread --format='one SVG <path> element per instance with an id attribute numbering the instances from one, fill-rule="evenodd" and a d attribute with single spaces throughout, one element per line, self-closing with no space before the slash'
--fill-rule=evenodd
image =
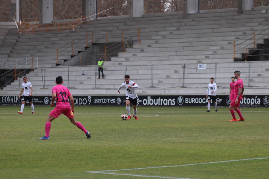
<path id="1" fill-rule="evenodd" d="M 51 130 L 51 122 L 55 118 L 58 118 L 59 115 L 61 115 L 61 114 L 66 115 L 72 124 L 76 125 L 80 130 L 82 130 L 86 134 L 87 138 L 90 138 L 91 137 L 90 132 L 88 132 L 80 122 L 77 122 L 75 120 L 75 117 L 74 117 L 74 98 L 73 98 L 72 94 L 70 93 L 70 91 L 68 90 L 68 88 L 62 85 L 62 83 L 63 83 L 62 76 L 58 76 L 56 78 L 55 83 L 57 85 L 52 88 L 51 107 L 54 106 L 53 103 L 54 103 L 55 99 L 57 100 L 57 104 L 56 104 L 56 107 L 51 111 L 51 113 L 49 114 L 49 116 L 47 118 L 46 125 L 45 125 L 46 135 L 42 138 L 39 138 L 39 139 L 41 139 L 41 140 L 50 139 L 49 133 Z M 68 98 L 71 101 L 72 109 L 70 108 Z"/>

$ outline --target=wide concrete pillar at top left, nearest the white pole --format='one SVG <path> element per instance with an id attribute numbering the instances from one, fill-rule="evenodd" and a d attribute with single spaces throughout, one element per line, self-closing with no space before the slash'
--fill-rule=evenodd
<path id="1" fill-rule="evenodd" d="M 39 24 L 53 21 L 53 0 L 39 0 Z"/>

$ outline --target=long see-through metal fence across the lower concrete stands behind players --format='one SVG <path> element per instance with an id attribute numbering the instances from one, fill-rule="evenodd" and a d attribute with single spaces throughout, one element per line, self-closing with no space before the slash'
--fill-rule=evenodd
<path id="1" fill-rule="evenodd" d="M 231 62 L 207 64 L 161 64 L 161 65 L 104 65 L 104 79 L 98 78 L 97 66 L 72 66 L 39 68 L 31 81 L 40 88 L 51 88 L 56 76 L 62 75 L 65 85 L 77 89 L 114 89 L 129 74 L 140 88 L 206 88 L 210 78 L 218 87 L 228 88 L 234 72 L 239 70 L 246 87 L 269 87 L 269 61 Z M 42 81 L 42 84 L 41 84 Z M 42 85 L 42 86 L 41 86 Z"/>

